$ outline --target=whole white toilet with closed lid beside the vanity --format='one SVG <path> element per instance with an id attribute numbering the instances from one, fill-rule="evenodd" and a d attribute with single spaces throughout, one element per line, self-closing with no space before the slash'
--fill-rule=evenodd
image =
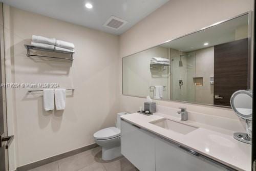
<path id="1" fill-rule="evenodd" d="M 112 160 L 121 156 L 120 147 L 120 123 L 121 115 L 126 115 L 128 113 L 121 112 L 117 114 L 116 117 L 116 127 L 108 127 L 94 133 L 94 140 L 99 145 L 102 146 L 102 159 Z"/>

